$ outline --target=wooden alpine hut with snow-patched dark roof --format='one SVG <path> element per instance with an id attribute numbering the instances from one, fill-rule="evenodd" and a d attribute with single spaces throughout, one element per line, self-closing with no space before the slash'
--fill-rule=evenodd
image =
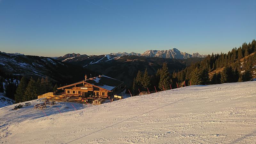
<path id="1" fill-rule="evenodd" d="M 58 89 L 64 90 L 64 94 L 62 95 L 66 96 L 107 98 L 115 92 L 120 91 L 123 83 L 122 81 L 104 75 L 89 79 L 85 76 L 85 79 L 80 82 L 62 86 Z"/>

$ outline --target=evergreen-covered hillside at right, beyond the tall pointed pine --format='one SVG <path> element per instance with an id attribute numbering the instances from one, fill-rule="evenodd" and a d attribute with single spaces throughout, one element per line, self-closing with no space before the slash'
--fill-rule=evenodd
<path id="1" fill-rule="evenodd" d="M 178 72 L 178 83 L 191 81 L 191 84 L 221 84 L 249 81 L 252 78 L 250 72 L 252 62 L 256 61 L 255 52 L 256 41 L 254 39 L 252 43 L 244 43 L 227 54 L 214 55 L 212 53 L 203 61 L 196 62 Z M 249 56 L 251 54 L 252 56 Z"/>

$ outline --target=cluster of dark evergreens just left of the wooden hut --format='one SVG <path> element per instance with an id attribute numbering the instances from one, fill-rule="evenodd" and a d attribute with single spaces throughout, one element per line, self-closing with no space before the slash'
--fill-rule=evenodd
<path id="1" fill-rule="evenodd" d="M 14 99 L 16 103 L 35 100 L 38 95 L 53 92 L 57 90 L 57 84 L 52 87 L 52 83 L 49 81 L 49 78 L 42 77 L 38 78 L 36 81 L 33 77 L 28 79 L 26 76 L 23 76 L 20 80 L 20 84 L 16 89 L 16 93 L 14 95 Z"/>

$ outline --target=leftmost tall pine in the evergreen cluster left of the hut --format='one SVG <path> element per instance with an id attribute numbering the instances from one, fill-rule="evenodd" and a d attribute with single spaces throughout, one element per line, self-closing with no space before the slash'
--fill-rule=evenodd
<path id="1" fill-rule="evenodd" d="M 28 85 L 28 80 L 25 76 L 22 76 L 20 84 L 16 89 L 16 94 L 14 95 L 15 103 L 23 102 L 23 97 L 25 95 L 25 90 Z"/>

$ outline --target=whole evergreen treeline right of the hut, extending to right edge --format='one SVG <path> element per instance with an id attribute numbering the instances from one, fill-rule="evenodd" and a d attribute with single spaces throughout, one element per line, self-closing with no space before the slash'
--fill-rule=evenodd
<path id="1" fill-rule="evenodd" d="M 249 57 L 247 57 L 249 56 Z M 169 90 L 186 85 L 195 84 L 221 84 L 244 82 L 252 79 L 252 63 L 256 61 L 256 41 L 244 43 L 239 48 L 233 48 L 228 53 L 208 55 L 204 60 L 170 74 L 167 63 L 158 69 L 155 75 L 148 76 L 147 69 L 144 73 L 138 71 L 133 80 L 134 94 L 140 91 Z"/>

